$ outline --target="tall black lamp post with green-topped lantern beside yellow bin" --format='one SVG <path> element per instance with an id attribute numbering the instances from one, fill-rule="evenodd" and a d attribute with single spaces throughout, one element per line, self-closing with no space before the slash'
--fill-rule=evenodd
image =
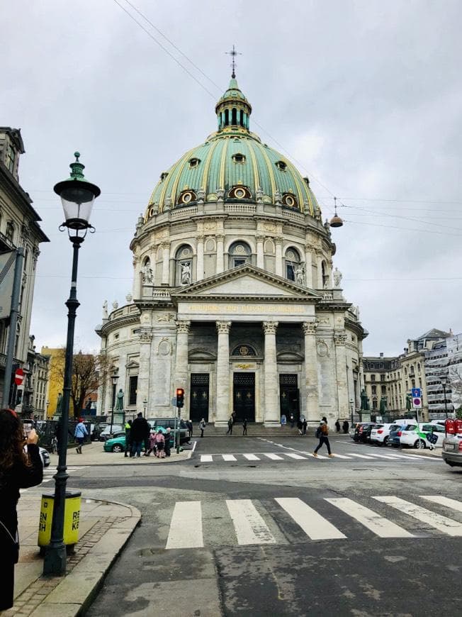
<path id="1" fill-rule="evenodd" d="M 45 550 L 43 562 L 43 574 L 64 576 L 66 574 L 66 547 L 64 545 L 64 504 L 66 499 L 67 474 L 67 425 L 69 423 L 69 400 L 72 385 L 72 356 L 74 354 L 74 327 L 77 308 L 77 266 L 79 263 L 79 248 L 83 243 L 86 233 L 90 230 L 94 233 L 94 227 L 90 225 L 91 209 L 94 200 L 101 193 L 96 184 L 91 184 L 84 177 L 84 165 L 79 162 L 79 152 L 75 152 L 76 160 L 71 163 L 71 174 L 67 180 L 55 185 L 55 193 L 60 196 L 64 209 L 64 223 L 60 231 L 67 228 L 69 240 L 72 243 L 72 278 L 69 299 L 66 301 L 67 309 L 67 341 L 64 362 L 64 388 L 62 396 L 62 414 L 60 422 L 60 436 L 58 448 L 58 466 L 55 475 L 55 503 L 53 506 L 53 518 L 51 526 L 50 544 Z"/>

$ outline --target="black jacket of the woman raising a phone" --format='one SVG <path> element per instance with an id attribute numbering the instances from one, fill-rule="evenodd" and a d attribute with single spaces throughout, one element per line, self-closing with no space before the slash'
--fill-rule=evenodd
<path id="1" fill-rule="evenodd" d="M 19 489 L 35 487 L 43 480 L 43 465 L 40 458 L 38 445 L 30 443 L 28 445 L 28 457 L 30 467 L 26 467 L 22 462 L 16 463 L 5 476 L 0 477 L 0 521 L 9 530 L 13 538 L 16 538 L 18 528 L 18 505 Z M 11 555 L 11 538 L 0 525 L 0 555 L 1 559 L 6 559 Z"/>

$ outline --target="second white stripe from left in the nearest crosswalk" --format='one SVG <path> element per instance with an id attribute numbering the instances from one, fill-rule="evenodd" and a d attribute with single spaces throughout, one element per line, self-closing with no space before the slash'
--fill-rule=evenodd
<path id="1" fill-rule="evenodd" d="M 237 543 L 276 544 L 276 540 L 250 499 L 227 499 Z"/>

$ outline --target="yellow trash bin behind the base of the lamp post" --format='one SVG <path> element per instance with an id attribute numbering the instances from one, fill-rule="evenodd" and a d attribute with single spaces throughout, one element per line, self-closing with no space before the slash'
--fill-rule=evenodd
<path id="1" fill-rule="evenodd" d="M 64 501 L 64 544 L 74 546 L 79 540 L 81 493 L 66 492 Z M 42 495 L 40 521 L 38 523 L 38 545 L 44 547 L 50 544 L 51 524 L 55 495 Z"/>

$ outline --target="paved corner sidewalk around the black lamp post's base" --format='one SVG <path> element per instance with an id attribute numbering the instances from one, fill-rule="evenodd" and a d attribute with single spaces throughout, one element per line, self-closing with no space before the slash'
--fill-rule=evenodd
<path id="1" fill-rule="evenodd" d="M 43 577 L 43 557 L 37 546 L 40 501 L 41 496 L 24 491 L 18 503 L 21 550 L 15 568 L 15 601 L 9 611 L 0 611 L 2 617 L 81 614 L 141 519 L 133 506 L 82 496 L 79 542 L 74 555 L 67 557 L 67 573 Z"/>

